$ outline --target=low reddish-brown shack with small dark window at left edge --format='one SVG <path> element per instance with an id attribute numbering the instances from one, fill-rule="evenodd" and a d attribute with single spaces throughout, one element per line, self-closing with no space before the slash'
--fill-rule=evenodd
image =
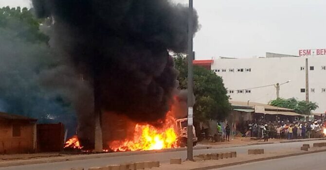
<path id="1" fill-rule="evenodd" d="M 0 154 L 35 153 L 36 121 L 0 112 Z"/>

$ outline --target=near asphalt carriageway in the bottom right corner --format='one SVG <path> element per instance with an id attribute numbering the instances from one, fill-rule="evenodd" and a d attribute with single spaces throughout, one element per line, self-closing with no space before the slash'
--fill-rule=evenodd
<path id="1" fill-rule="evenodd" d="M 326 153 L 323 152 L 254 162 L 218 170 L 325 170 L 325 160 Z"/>

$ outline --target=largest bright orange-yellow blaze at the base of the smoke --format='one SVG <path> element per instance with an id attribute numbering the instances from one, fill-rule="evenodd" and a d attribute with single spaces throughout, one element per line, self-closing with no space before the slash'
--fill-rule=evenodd
<path id="1" fill-rule="evenodd" d="M 110 149 L 117 151 L 149 151 L 177 148 L 178 135 L 175 119 L 167 115 L 164 126 L 156 128 L 149 124 L 136 124 L 132 140 L 112 141 Z"/>

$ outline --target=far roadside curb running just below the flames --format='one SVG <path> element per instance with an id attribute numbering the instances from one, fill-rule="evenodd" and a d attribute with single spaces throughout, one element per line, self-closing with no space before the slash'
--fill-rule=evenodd
<path id="1" fill-rule="evenodd" d="M 202 149 L 212 149 L 212 147 L 194 147 L 194 150 L 202 150 Z M 186 150 L 187 150 L 187 148 L 175 148 L 175 149 L 154 150 L 154 151 L 78 154 L 78 155 L 60 156 L 60 157 L 51 157 L 51 158 L 49 158 L 49 157 L 48 158 L 38 158 L 38 159 L 33 159 L 33 160 L 28 160 L 28 159 L 27 160 L 13 160 L 13 161 L 0 162 L 0 168 L 21 166 L 21 165 L 97 159 L 97 158 L 106 158 L 106 157 L 115 157 L 115 156 L 132 156 L 132 155 L 142 155 L 142 154 L 151 154 L 151 153 L 178 152 L 178 151 L 186 151 Z"/>

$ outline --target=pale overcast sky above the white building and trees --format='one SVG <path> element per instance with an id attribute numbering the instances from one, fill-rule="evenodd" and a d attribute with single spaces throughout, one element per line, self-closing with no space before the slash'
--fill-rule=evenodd
<path id="1" fill-rule="evenodd" d="M 30 1 L 0 0 L 6 5 L 30 6 Z M 201 27 L 194 38 L 196 59 L 325 49 L 325 6 L 326 0 L 194 0 Z"/>

